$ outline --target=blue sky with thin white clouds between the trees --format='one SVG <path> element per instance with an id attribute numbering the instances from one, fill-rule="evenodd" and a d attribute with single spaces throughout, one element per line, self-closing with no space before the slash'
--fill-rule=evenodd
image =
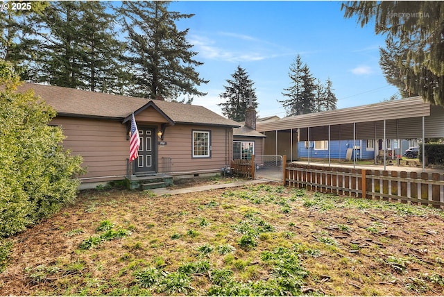
<path id="1" fill-rule="evenodd" d="M 300 54 L 315 78 L 330 77 L 338 108 L 377 103 L 398 94 L 379 67 L 384 36 L 370 24 L 344 19 L 341 2 L 330 1 L 178 1 L 169 10 L 194 13 L 178 28 L 198 52 L 197 68 L 210 80 L 193 104 L 221 114 L 217 105 L 227 79 L 240 65 L 255 83 L 259 117 L 285 116 L 277 100 L 291 86 L 289 67 Z"/>

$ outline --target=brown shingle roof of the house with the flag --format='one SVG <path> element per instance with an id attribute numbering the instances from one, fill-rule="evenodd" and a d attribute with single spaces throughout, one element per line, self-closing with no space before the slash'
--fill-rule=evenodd
<path id="1" fill-rule="evenodd" d="M 53 85 L 37 85 L 24 83 L 19 92 L 33 89 L 58 114 L 74 117 L 98 117 L 109 119 L 125 119 L 131 113 L 143 108 L 152 101 L 164 114 L 176 124 L 209 124 L 213 126 L 239 127 L 237 122 L 225 119 L 216 112 L 199 105 L 176 102 L 150 100 L 131 96 L 120 96 L 99 92 L 76 90 Z"/>

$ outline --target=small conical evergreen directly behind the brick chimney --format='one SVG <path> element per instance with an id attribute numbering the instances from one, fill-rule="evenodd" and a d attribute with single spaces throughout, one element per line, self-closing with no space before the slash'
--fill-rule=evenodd
<path id="1" fill-rule="evenodd" d="M 237 66 L 236 71 L 231 76 L 233 79 L 228 79 L 228 85 L 223 86 L 225 92 L 219 95 L 226 102 L 218 105 L 222 107 L 222 113 L 228 119 L 245 121 L 245 112 L 248 105 L 250 105 L 250 98 L 253 107 L 257 108 L 257 97 L 255 89 L 253 89 L 254 82 L 248 78 L 246 70 L 241 68 L 240 65 Z"/>

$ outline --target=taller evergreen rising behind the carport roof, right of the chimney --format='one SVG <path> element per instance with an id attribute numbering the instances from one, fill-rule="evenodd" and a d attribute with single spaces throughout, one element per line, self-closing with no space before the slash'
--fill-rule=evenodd
<path id="1" fill-rule="evenodd" d="M 316 85 L 307 64 L 302 65 L 300 55 L 291 63 L 289 77 L 292 85 L 282 92 L 289 99 L 278 101 L 287 111 L 287 117 L 314 112 Z"/>

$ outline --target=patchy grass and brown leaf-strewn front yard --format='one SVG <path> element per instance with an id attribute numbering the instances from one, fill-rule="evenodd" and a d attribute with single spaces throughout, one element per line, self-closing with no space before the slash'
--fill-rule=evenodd
<path id="1" fill-rule="evenodd" d="M 98 189 L 1 243 L 0 295 L 438 296 L 443 230 L 442 210 L 273 184 Z"/>

